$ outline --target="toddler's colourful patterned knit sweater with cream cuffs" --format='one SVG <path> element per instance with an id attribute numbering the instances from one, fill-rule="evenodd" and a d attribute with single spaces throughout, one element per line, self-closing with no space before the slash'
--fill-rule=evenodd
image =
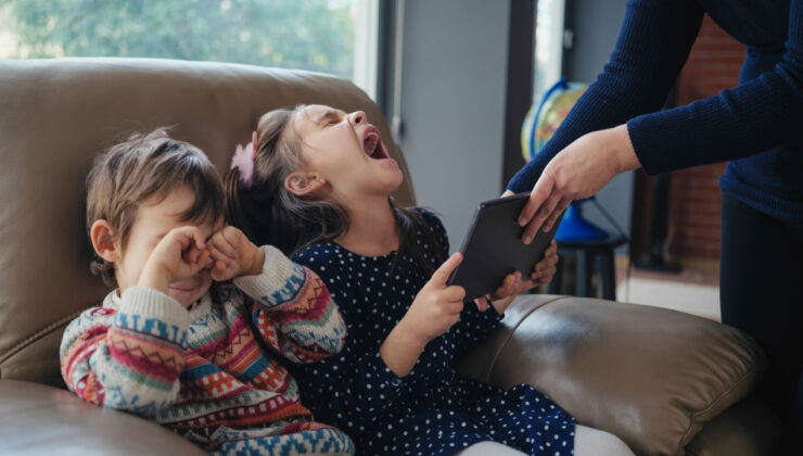
<path id="1" fill-rule="evenodd" d="M 346 434 L 313 421 L 280 364 L 337 353 L 340 312 L 315 273 L 262 249 L 262 274 L 213 286 L 189 311 L 144 287 L 111 292 L 64 333 L 67 387 L 216 453 L 353 454 Z"/>

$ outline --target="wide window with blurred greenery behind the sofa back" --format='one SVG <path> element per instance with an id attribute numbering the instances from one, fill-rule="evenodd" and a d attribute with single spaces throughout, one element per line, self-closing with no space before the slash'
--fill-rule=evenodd
<path id="1" fill-rule="evenodd" d="M 4 0 L 0 58 L 164 58 L 310 69 L 373 98 L 379 0 Z"/>

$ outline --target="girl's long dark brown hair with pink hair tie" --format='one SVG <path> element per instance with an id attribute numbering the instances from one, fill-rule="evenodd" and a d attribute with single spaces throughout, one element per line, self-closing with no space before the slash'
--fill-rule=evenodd
<path id="1" fill-rule="evenodd" d="M 251 185 L 241 182 L 238 167 L 224 177 L 227 221 L 257 245 L 272 244 L 288 256 L 309 245 L 332 242 L 348 230 L 348 215 L 340 206 L 298 197 L 284 187 L 286 177 L 302 165 L 301 140 L 291 124 L 304 107 L 273 110 L 259 118 Z M 399 227 L 399 253 L 432 274 L 433 264 L 424 258 L 417 236 L 436 246 L 436 264 L 445 258 L 429 225 L 416 211 L 398 207 L 393 198 L 390 204 Z"/>

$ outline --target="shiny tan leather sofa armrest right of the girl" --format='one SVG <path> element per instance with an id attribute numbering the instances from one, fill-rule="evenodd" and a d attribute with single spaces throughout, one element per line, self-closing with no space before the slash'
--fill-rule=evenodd
<path id="1" fill-rule="evenodd" d="M 612 301 L 523 295 L 458 369 L 509 388 L 530 383 L 577 422 L 637 454 L 683 454 L 702 425 L 744 397 L 765 358 L 725 325 Z"/>

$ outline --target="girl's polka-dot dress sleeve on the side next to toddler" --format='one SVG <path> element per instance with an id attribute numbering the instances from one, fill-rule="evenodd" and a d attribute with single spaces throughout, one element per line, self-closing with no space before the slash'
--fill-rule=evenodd
<path id="1" fill-rule="evenodd" d="M 359 325 L 359 301 L 348 291 L 345 271 L 331 264 L 324 266 L 323 255 L 311 255 L 309 249 L 294 259 L 316 270 L 327 283 L 341 303 L 349 334 L 339 355 L 311 365 L 292 366 L 302 384 L 304 404 L 313 408 L 316 418 L 359 432 L 393 409 L 405 381 L 385 365 L 379 345 L 366 342 L 370 340 L 368 329 Z"/>

